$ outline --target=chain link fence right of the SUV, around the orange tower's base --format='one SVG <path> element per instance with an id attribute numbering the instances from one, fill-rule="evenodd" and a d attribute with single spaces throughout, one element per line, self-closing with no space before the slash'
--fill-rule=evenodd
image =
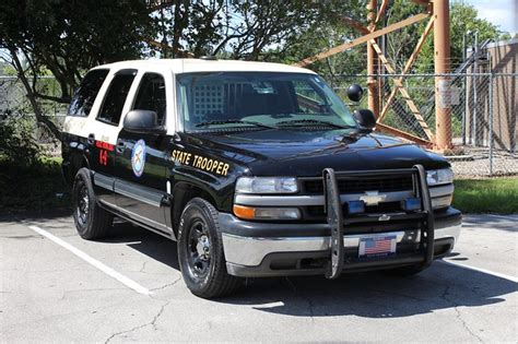
<path id="1" fill-rule="evenodd" d="M 436 76 L 448 80 L 437 92 Z M 374 98 L 379 122 L 415 140 L 434 142 L 435 107 L 440 102 L 451 109 L 454 147 L 444 153 L 458 176 L 518 174 L 517 73 L 339 75 L 328 82 L 344 100 L 353 83 L 381 90 Z M 367 96 L 354 107 L 367 108 Z"/>

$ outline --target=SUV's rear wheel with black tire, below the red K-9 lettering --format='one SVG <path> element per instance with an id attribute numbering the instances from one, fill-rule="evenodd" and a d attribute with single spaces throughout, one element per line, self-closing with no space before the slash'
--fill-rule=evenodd
<path id="1" fill-rule="evenodd" d="M 73 222 L 83 239 L 95 240 L 106 236 L 114 222 L 114 215 L 97 204 L 91 173 L 85 167 L 75 175 L 72 204 Z"/>

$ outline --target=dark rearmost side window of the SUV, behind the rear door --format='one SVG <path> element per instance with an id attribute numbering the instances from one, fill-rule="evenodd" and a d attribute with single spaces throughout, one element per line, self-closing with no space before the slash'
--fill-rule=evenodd
<path id="1" fill-rule="evenodd" d="M 72 102 L 70 102 L 69 116 L 86 117 L 90 115 L 90 110 L 94 105 L 106 75 L 108 75 L 107 69 L 96 69 L 90 71 L 84 76 L 75 91 Z"/>

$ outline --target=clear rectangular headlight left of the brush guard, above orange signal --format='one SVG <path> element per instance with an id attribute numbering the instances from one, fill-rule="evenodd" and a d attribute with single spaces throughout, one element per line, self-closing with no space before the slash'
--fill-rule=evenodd
<path id="1" fill-rule="evenodd" d="M 295 193 L 297 180 L 284 177 L 240 177 L 236 183 L 237 193 Z"/>

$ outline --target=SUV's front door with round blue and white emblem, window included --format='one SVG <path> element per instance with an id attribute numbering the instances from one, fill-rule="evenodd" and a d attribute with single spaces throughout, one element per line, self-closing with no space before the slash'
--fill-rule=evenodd
<path id="1" fill-rule="evenodd" d="M 166 117 L 165 79 L 158 73 L 144 73 L 131 109 L 152 110 L 158 123 Z M 166 135 L 138 134 L 122 129 L 116 152 L 117 207 L 133 220 L 170 234 L 166 223 Z"/>

